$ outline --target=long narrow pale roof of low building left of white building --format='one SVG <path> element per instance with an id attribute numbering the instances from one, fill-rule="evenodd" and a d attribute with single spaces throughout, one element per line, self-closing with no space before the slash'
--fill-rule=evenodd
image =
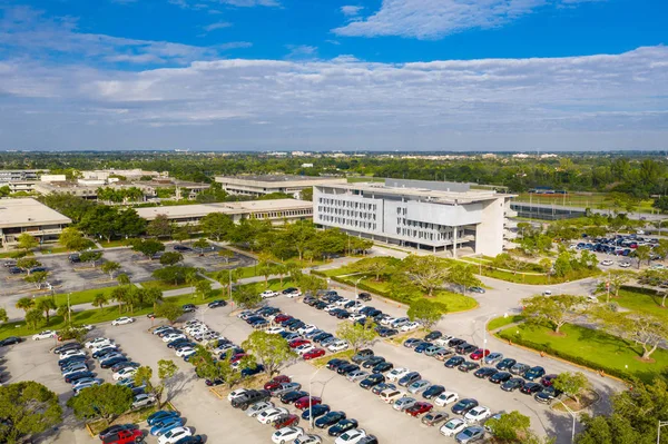
<path id="1" fill-rule="evenodd" d="M 296 199 L 249 200 L 217 204 L 176 205 L 167 207 L 136 208 L 139 217 L 153 220 L 158 215 L 169 219 L 183 217 L 204 217 L 210 213 L 239 215 L 257 211 L 286 211 L 291 209 L 312 209 L 313 203 Z"/>

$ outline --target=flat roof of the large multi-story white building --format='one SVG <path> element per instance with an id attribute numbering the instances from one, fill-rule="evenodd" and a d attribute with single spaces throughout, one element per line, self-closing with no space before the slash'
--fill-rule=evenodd
<path id="1" fill-rule="evenodd" d="M 498 194 L 493 190 L 471 189 L 468 191 L 443 191 L 429 188 L 389 187 L 379 182 L 333 184 L 322 185 L 320 187 L 335 188 L 346 191 L 362 190 L 367 193 L 377 193 L 380 195 L 419 197 L 434 204 L 471 204 L 475 201 L 497 199 L 499 197 L 514 197 L 514 195 Z"/>

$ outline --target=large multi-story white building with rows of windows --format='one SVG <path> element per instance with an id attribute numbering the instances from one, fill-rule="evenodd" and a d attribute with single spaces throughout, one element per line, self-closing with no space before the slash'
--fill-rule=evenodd
<path id="1" fill-rule="evenodd" d="M 313 221 L 351 235 L 404 247 L 503 250 L 510 195 L 473 190 L 466 184 L 386 179 L 385 184 L 314 187 Z"/>

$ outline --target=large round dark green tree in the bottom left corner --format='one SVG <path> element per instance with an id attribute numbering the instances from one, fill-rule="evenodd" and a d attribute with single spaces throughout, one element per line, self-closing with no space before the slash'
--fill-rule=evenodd
<path id="1" fill-rule="evenodd" d="M 58 395 L 46 386 L 32 381 L 0 386 L 1 443 L 22 443 L 61 421 Z"/>

